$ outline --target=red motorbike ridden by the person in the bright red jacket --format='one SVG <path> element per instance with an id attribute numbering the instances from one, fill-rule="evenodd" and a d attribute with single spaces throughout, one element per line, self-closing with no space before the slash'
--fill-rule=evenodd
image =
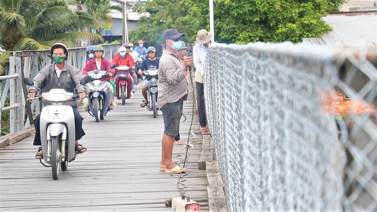
<path id="1" fill-rule="evenodd" d="M 132 67 L 127 65 L 115 67 L 115 94 L 117 99 L 122 100 L 122 105 L 125 104 L 125 99 L 131 98 L 131 70 Z"/>

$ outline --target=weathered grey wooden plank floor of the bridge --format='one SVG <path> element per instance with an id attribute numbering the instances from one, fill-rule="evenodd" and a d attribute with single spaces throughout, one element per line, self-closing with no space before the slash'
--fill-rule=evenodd
<path id="1" fill-rule="evenodd" d="M 80 143 L 88 151 L 69 163 L 59 180 L 52 179 L 51 168 L 34 159 L 33 136 L 0 150 L 0 210 L 171 211 L 164 201 L 178 197 L 177 183 L 185 180 L 185 192 L 200 203 L 201 211 L 209 211 L 206 170 L 198 170 L 202 135 L 197 130 L 197 115 L 187 175 L 179 179 L 183 175 L 160 172 L 161 111 L 155 119 L 152 111 L 140 108 L 141 84 L 135 89 L 135 97 L 125 105 L 117 100 L 118 106 L 100 123 L 80 109 L 86 132 Z M 180 127 L 184 143 L 193 109 L 193 95 L 189 97 L 184 103 L 187 120 Z M 183 160 L 185 152 L 184 145 L 174 146 L 174 161 Z"/>

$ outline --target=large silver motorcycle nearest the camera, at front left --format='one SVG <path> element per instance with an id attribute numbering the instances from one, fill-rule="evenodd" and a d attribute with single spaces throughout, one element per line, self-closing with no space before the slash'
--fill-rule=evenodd
<path id="1" fill-rule="evenodd" d="M 30 78 L 24 78 L 24 83 L 33 86 L 34 82 Z M 84 77 L 81 85 L 90 81 L 89 77 Z M 76 88 L 77 89 L 77 88 Z M 75 90 L 76 90 L 75 89 Z M 40 113 L 40 136 L 43 159 L 40 162 L 45 167 L 51 167 L 52 178 L 59 179 L 60 167 L 62 171 L 68 168 L 68 162 L 74 161 L 80 152 L 75 151 L 75 116 L 71 106 L 64 105 L 77 98 L 76 92 L 66 92 L 64 89 L 51 89 L 49 92 L 39 94 L 31 99 L 42 99 L 45 105 Z"/>

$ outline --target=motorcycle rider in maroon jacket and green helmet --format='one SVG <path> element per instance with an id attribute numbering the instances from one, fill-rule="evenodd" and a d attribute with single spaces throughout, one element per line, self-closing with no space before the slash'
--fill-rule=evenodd
<path id="1" fill-rule="evenodd" d="M 94 46 L 93 52 L 95 55 L 95 59 L 89 60 L 85 64 L 83 68 L 83 75 L 85 76 L 88 72 L 91 72 L 92 70 L 107 70 L 109 77 L 102 78 L 101 81 L 106 81 L 106 87 L 109 91 L 109 102 L 112 106 L 110 107 L 110 109 L 113 109 L 116 107 L 116 104 L 114 98 L 114 90 L 109 81 L 110 78 L 115 74 L 115 70 L 113 68 L 110 68 L 111 62 L 105 57 L 103 57 L 103 47 L 101 45 Z"/>

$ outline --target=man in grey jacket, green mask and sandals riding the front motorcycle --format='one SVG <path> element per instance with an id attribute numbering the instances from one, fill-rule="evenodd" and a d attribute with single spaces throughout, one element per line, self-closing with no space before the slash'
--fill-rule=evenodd
<path id="1" fill-rule="evenodd" d="M 83 86 L 80 86 L 80 80 L 83 78 L 79 69 L 75 66 L 67 64 L 65 60 L 68 58 L 68 49 L 66 45 L 62 43 L 55 43 L 51 46 L 50 56 L 54 62 L 40 70 L 37 76 L 33 79 L 34 86 L 29 88 L 28 98 L 34 98 L 38 91 L 49 92 L 51 89 L 64 89 L 67 92 L 73 93 L 75 88 L 79 93 L 79 98 L 85 98 L 85 90 Z M 83 117 L 81 117 L 77 110 L 77 100 L 71 100 L 66 105 L 72 106 L 75 116 L 75 151 L 84 153 L 87 151 L 85 147 L 79 144 L 78 140 L 85 135 L 83 130 Z M 40 114 L 34 119 L 35 137 L 34 146 L 41 145 L 41 137 L 39 131 Z M 43 159 L 42 148 L 38 148 L 38 152 L 35 155 L 36 159 Z"/>

